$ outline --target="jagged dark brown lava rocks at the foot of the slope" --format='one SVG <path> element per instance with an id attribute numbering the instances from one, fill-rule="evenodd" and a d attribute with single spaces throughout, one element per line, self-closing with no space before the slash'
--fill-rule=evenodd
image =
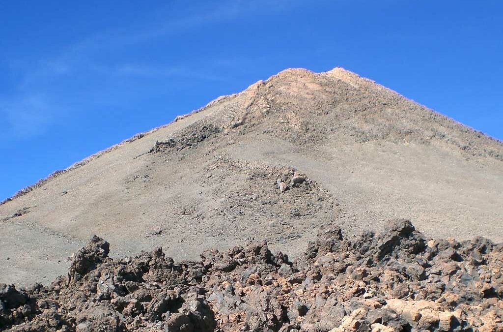
<path id="1" fill-rule="evenodd" d="M 108 253 L 94 237 L 50 287 L 0 284 L 0 329 L 503 331 L 503 244 L 428 240 L 406 220 L 357 239 L 322 229 L 293 262 L 266 244 L 201 261 Z"/>

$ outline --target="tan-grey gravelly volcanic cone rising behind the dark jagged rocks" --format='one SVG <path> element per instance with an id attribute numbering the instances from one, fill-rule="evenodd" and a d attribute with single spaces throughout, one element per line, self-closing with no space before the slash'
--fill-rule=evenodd
<path id="1" fill-rule="evenodd" d="M 295 257 L 320 226 L 398 217 L 502 241 L 503 144 L 344 69 L 289 69 L 4 202 L 0 282 L 50 282 L 93 234 L 112 256 L 267 240 Z"/>

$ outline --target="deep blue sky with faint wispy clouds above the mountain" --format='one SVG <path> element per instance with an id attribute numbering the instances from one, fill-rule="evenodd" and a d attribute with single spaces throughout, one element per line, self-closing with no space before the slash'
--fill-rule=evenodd
<path id="1" fill-rule="evenodd" d="M 344 67 L 503 139 L 501 1 L 0 4 L 0 200 L 291 67 Z"/>

